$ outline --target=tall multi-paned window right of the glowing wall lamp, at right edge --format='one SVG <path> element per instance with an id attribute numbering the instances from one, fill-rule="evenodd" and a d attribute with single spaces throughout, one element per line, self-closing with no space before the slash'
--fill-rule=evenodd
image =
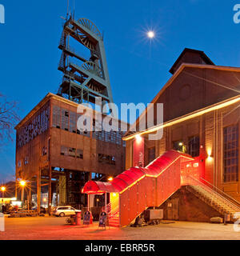
<path id="1" fill-rule="evenodd" d="M 238 125 L 223 129 L 224 182 L 238 182 Z"/>

